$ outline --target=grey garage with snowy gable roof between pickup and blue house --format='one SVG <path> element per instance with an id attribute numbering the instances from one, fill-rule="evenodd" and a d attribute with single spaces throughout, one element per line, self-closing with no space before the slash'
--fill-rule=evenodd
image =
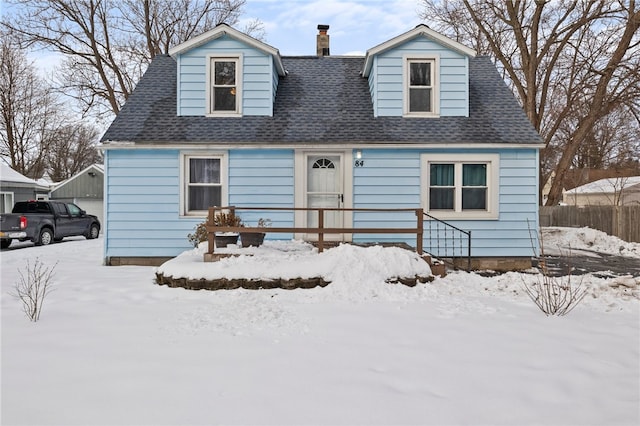
<path id="1" fill-rule="evenodd" d="M 51 199 L 77 204 L 104 223 L 104 166 L 93 164 L 51 190 Z"/>

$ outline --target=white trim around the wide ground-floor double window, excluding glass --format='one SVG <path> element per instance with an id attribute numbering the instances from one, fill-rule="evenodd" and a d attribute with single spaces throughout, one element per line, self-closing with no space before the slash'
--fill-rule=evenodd
<path id="1" fill-rule="evenodd" d="M 422 182 L 422 207 L 426 213 L 438 219 L 456 219 L 456 220 L 494 220 L 499 217 L 499 193 L 500 193 L 500 155 L 499 154 L 422 154 L 420 156 L 421 163 L 421 182 Z M 456 166 L 456 199 L 454 206 L 456 211 L 447 210 L 429 210 L 429 187 L 431 185 L 430 165 L 438 163 L 447 164 L 487 164 L 487 210 L 462 211 L 462 176 L 458 169 L 462 166 Z"/>

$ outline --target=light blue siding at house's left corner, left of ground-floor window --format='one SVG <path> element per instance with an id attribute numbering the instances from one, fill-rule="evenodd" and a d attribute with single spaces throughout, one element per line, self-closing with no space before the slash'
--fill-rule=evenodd
<path id="1" fill-rule="evenodd" d="M 105 153 L 105 257 L 176 256 L 201 218 L 180 217 L 177 150 Z"/>

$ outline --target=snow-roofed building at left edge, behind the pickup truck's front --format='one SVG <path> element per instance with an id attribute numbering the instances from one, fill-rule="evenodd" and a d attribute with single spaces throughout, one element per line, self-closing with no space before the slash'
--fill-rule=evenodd
<path id="1" fill-rule="evenodd" d="M 49 187 L 13 170 L 0 160 L 0 213 L 10 213 L 18 201 L 46 200 Z"/>

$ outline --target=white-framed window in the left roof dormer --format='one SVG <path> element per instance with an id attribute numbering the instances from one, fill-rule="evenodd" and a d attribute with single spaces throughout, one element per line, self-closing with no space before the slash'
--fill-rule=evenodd
<path id="1" fill-rule="evenodd" d="M 239 57 L 211 56 L 208 67 L 209 115 L 240 115 L 242 89 Z"/>

